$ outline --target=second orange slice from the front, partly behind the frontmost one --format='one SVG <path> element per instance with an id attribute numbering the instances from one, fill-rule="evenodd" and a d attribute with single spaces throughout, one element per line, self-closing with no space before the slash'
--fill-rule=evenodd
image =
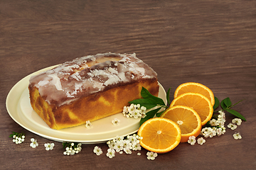
<path id="1" fill-rule="evenodd" d="M 201 118 L 188 106 L 173 106 L 161 115 L 161 118 L 173 120 L 181 128 L 181 142 L 188 142 L 188 137 L 197 137 L 202 129 Z"/>

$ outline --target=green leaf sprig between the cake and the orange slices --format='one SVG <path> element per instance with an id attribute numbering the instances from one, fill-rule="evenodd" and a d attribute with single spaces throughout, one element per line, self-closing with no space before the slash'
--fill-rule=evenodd
<path id="1" fill-rule="evenodd" d="M 167 105 L 170 104 L 170 99 L 169 99 L 170 90 L 171 88 L 167 91 L 167 94 L 166 94 Z M 146 117 L 141 119 L 140 125 L 142 125 L 142 123 L 144 123 L 146 120 L 149 120 L 150 118 L 154 118 L 155 115 L 157 117 L 160 117 L 161 113 L 164 113 L 166 108 L 169 108 L 169 106 L 167 106 L 166 103 L 164 103 L 163 99 L 150 94 L 150 92 L 144 87 L 142 87 L 141 95 L 142 95 L 142 98 L 135 99 L 134 101 L 129 102 L 131 104 L 132 103 L 140 104 L 140 106 L 144 106 L 146 107 L 146 109 L 152 108 L 151 111 L 146 113 Z M 164 108 L 164 111 L 159 112 L 161 108 Z"/>

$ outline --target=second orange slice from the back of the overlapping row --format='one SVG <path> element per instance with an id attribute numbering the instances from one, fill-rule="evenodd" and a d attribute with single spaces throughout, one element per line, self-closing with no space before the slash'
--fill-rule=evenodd
<path id="1" fill-rule="evenodd" d="M 181 105 L 188 106 L 193 108 L 193 110 L 198 113 L 201 118 L 202 125 L 206 125 L 206 123 L 213 116 L 213 105 L 210 103 L 209 99 L 202 94 L 197 93 L 186 93 L 181 94 L 178 97 L 174 98 L 171 102 L 170 107 Z"/>

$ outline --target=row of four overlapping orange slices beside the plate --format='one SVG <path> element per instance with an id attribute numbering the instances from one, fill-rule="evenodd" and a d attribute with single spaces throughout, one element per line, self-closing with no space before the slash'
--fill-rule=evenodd
<path id="1" fill-rule="evenodd" d="M 143 137 L 140 144 L 156 153 L 171 151 L 179 142 L 200 134 L 202 125 L 213 116 L 213 105 L 213 91 L 207 86 L 194 82 L 181 84 L 161 118 L 146 120 L 139 128 L 138 135 Z"/>

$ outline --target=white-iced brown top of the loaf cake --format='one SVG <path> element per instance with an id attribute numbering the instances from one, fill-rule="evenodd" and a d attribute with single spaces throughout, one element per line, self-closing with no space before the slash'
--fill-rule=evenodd
<path id="1" fill-rule="evenodd" d="M 156 78 L 156 72 L 139 60 L 135 53 L 105 53 L 60 64 L 31 77 L 29 86 L 36 86 L 49 104 L 62 106 L 117 84 L 152 78 Z"/>

